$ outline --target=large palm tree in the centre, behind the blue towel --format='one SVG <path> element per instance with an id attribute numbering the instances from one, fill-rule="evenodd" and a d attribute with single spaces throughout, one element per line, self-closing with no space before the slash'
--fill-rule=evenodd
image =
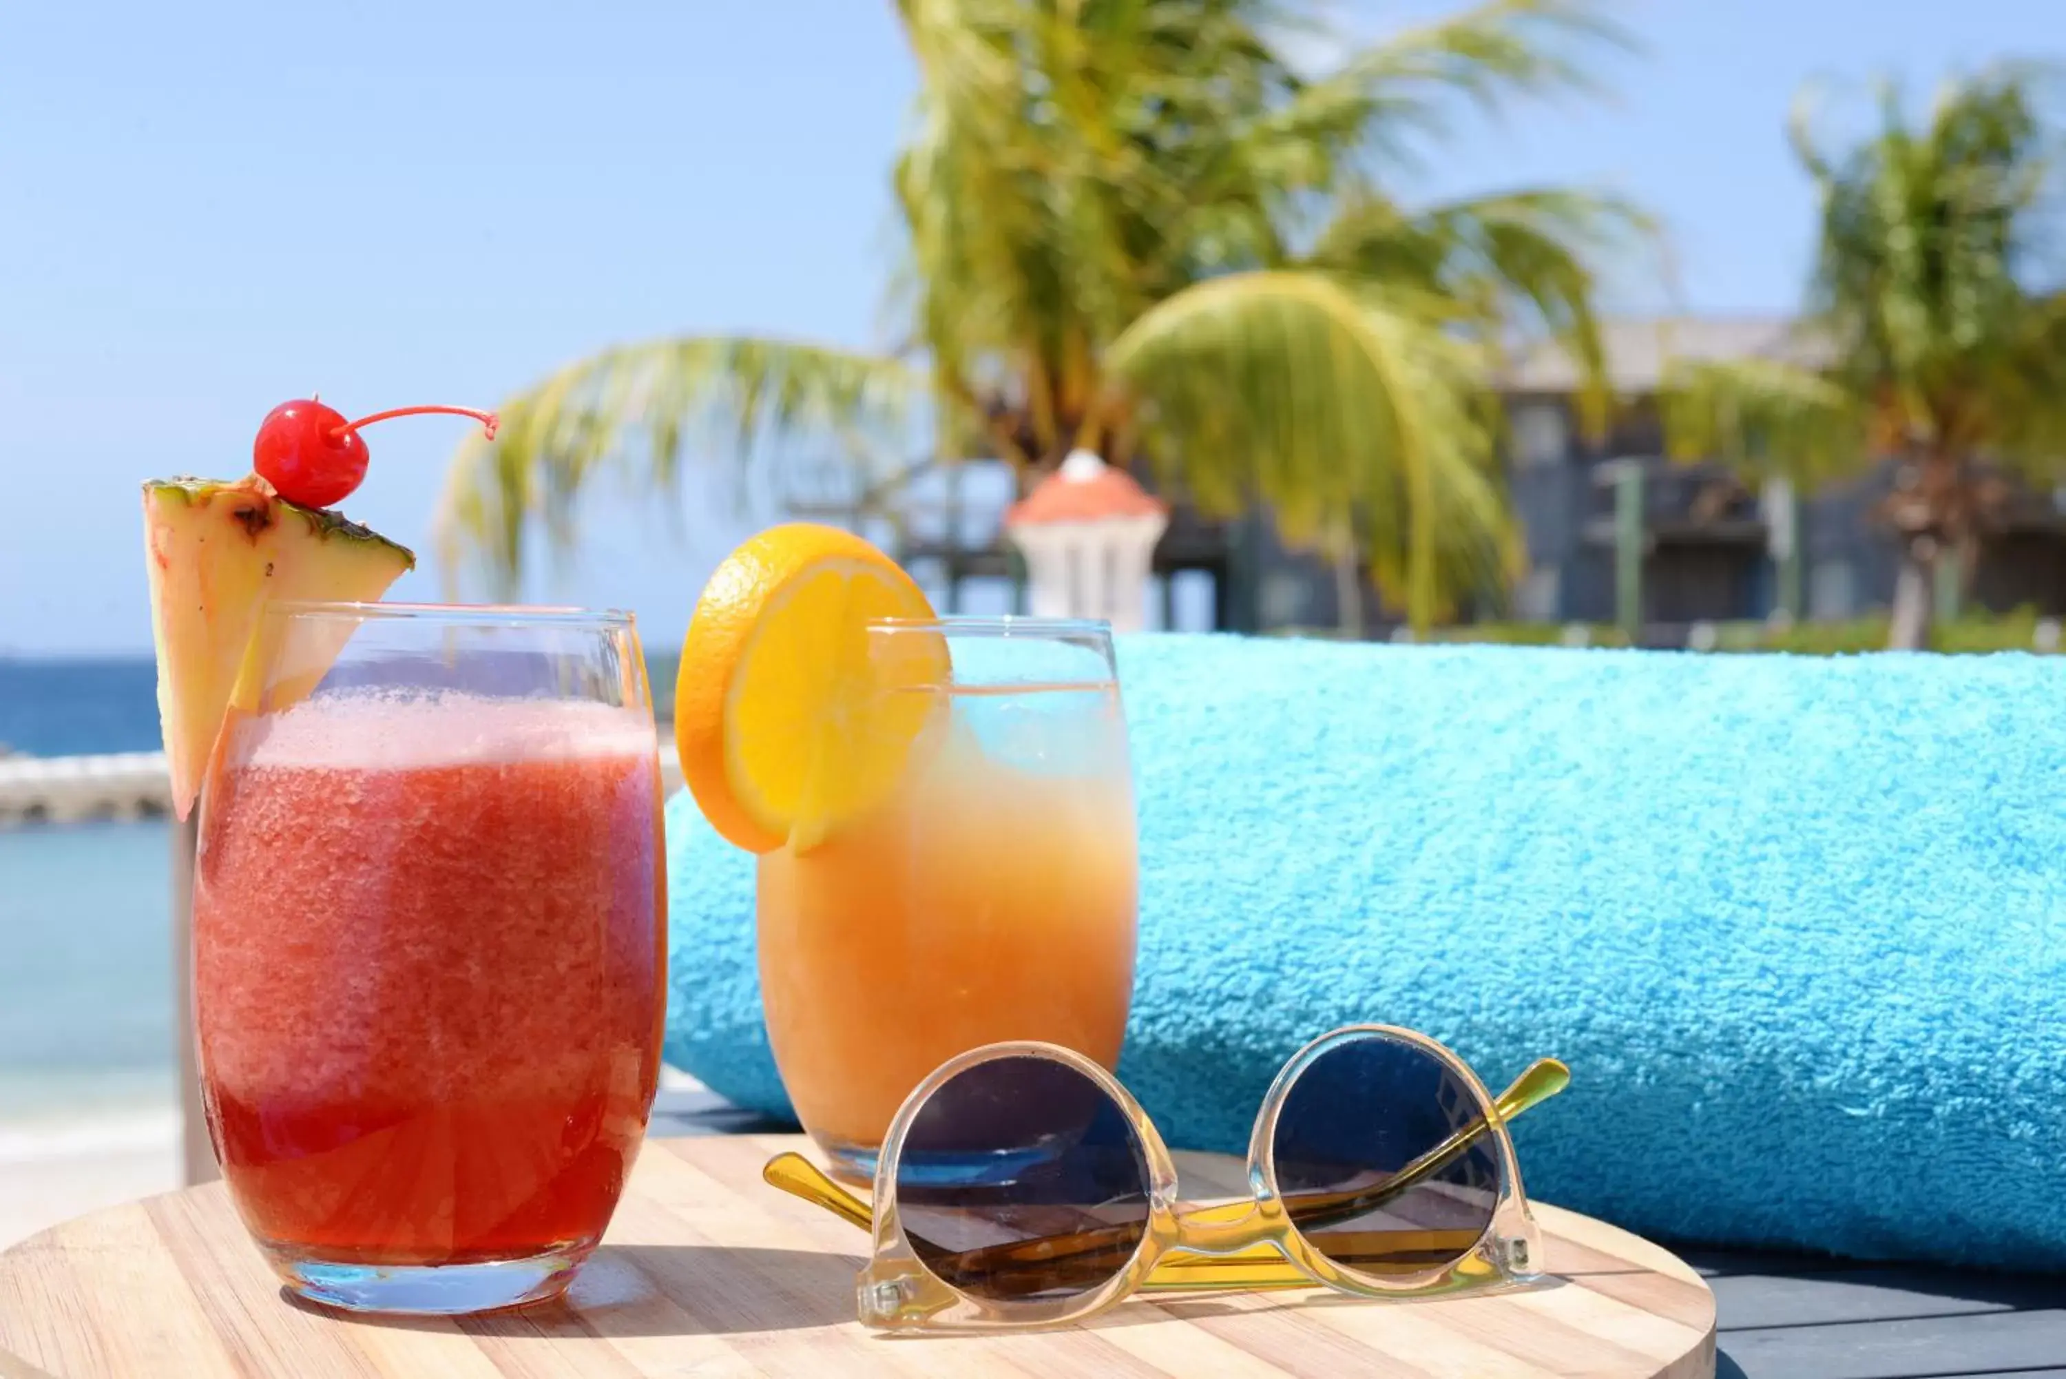
<path id="1" fill-rule="evenodd" d="M 1318 0 L 1308 0 L 1312 10 Z M 1293 544 L 1368 562 L 1426 626 L 1498 585 L 1510 527 L 1488 366 L 1516 331 L 1599 374 L 1591 256 L 1640 225 L 1558 188 L 1409 207 L 1384 174 L 1454 101 L 1585 89 L 1595 0 L 1492 0 L 1320 74 L 1283 0 L 899 0 L 917 58 L 905 240 L 882 354 L 665 339 L 519 393 L 452 463 L 440 529 L 508 587 L 529 533 L 692 432 L 814 436 L 872 476 L 913 426 L 1021 484 L 1072 449 L 1145 463 L 1209 515 L 1266 502 Z M 1599 393 L 1597 401 L 1603 401 Z"/>

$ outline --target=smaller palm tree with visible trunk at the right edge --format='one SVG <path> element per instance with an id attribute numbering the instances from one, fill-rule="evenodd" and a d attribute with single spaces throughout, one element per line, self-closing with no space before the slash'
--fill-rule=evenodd
<path id="1" fill-rule="evenodd" d="M 1971 560 L 2008 492 L 1994 476 L 2066 461 L 2045 81 L 2006 66 L 1952 83 L 1919 124 L 1882 85 L 1878 130 L 1841 153 L 1797 105 L 1793 147 L 1822 203 L 1799 349 L 1676 366 L 1667 385 L 1678 453 L 1799 488 L 1897 461 L 1880 507 L 1901 544 L 1897 649 L 1930 643 L 1938 564 Z"/>

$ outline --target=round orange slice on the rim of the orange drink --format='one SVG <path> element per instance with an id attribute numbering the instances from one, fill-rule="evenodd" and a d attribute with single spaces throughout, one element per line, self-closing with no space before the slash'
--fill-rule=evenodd
<path id="1" fill-rule="evenodd" d="M 897 788 L 948 680 L 946 641 L 878 635 L 932 618 L 895 560 L 837 527 L 789 523 L 717 566 L 682 643 L 682 779 L 748 852 L 810 848 Z"/>

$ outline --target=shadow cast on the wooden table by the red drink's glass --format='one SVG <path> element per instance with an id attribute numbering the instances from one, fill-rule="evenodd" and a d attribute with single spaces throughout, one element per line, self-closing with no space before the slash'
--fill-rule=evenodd
<path id="1" fill-rule="evenodd" d="M 853 1321 L 859 1255 L 723 1245 L 605 1245 L 556 1303 L 473 1317 L 345 1313 L 281 1296 L 347 1325 L 401 1331 L 459 1329 L 477 1338 L 723 1336 Z"/>

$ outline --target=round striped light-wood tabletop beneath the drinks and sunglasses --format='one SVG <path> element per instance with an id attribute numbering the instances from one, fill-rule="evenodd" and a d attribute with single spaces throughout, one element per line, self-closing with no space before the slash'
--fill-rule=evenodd
<path id="1" fill-rule="evenodd" d="M 566 1303 L 471 1319 L 347 1317 L 293 1303 L 223 1187 L 99 1212 L 0 1255 L 0 1354 L 60 1379 L 645 1379 L 678 1375 L 1103 1375 L 1217 1379 L 1704 1379 L 1715 1300 L 1667 1251 L 1558 1207 L 1545 1286 L 1359 1303 L 1326 1292 L 1134 1298 L 1085 1329 L 884 1338 L 853 1319 L 868 1238 L 760 1183 L 789 1135 L 657 1139 Z M 1178 1156 L 1186 1191 L 1240 1164 Z M 31 1369 L 33 1367 L 33 1369 Z M 0 1377 L 8 1362 L 0 1360 Z"/>

